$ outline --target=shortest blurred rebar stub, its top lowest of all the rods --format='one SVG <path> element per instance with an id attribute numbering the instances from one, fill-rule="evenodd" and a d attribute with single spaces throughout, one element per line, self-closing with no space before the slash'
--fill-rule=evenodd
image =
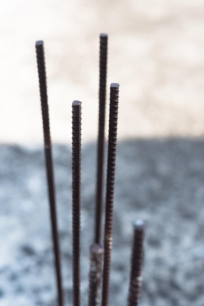
<path id="1" fill-rule="evenodd" d="M 102 257 L 102 245 L 93 243 L 90 246 L 88 306 L 100 306 L 102 285 Z"/>

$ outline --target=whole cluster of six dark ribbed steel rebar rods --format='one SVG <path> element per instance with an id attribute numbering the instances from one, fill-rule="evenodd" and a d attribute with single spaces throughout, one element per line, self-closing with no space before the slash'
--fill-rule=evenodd
<path id="1" fill-rule="evenodd" d="M 109 132 L 107 153 L 106 195 L 103 209 L 104 176 L 104 130 L 107 74 L 107 34 L 100 35 L 100 80 L 99 80 L 99 130 L 96 179 L 96 214 L 93 244 L 90 246 L 90 270 L 88 306 L 108 306 L 110 291 L 110 267 L 112 250 L 113 206 L 115 167 L 117 149 L 117 125 L 119 84 L 110 85 Z M 40 83 L 41 111 L 44 133 L 44 152 L 47 185 L 52 225 L 52 239 L 55 257 L 58 305 L 64 306 L 61 277 L 60 243 L 57 225 L 55 180 L 53 172 L 52 144 L 49 128 L 46 71 L 43 41 L 36 42 L 37 64 Z M 80 240 L 81 240 L 81 109 L 82 102 L 72 103 L 72 268 L 73 268 L 73 306 L 81 305 L 80 293 Z M 105 215 L 102 236 L 102 216 Z M 137 219 L 133 223 L 133 243 L 131 272 L 129 281 L 128 306 L 138 306 L 142 290 L 143 240 L 145 222 Z M 103 243 L 102 243 L 103 240 Z"/>

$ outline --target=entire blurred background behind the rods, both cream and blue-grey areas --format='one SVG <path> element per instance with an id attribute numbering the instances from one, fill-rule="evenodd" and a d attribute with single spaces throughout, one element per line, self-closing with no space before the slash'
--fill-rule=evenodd
<path id="1" fill-rule="evenodd" d="M 106 32 L 107 84 L 120 83 L 110 305 L 126 303 L 131 222 L 143 218 L 148 227 L 142 305 L 203 306 L 203 1 L 10 0 L 0 4 L 0 25 L 0 305 L 56 305 L 37 40 L 45 43 L 67 305 L 71 104 L 82 101 L 82 304 L 87 304 L 99 34 Z"/>

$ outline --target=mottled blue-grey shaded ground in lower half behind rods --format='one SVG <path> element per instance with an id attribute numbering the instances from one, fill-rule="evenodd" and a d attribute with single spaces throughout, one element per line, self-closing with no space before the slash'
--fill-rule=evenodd
<path id="1" fill-rule="evenodd" d="M 66 298 L 71 291 L 71 147 L 55 145 Z M 126 304 L 132 221 L 147 221 L 143 306 L 203 306 L 204 140 L 133 139 L 117 148 L 110 305 Z M 96 145 L 82 146 L 82 304 L 93 239 Z M 55 302 L 42 147 L 0 145 L 0 304 Z M 69 303 L 70 304 L 70 303 Z"/>

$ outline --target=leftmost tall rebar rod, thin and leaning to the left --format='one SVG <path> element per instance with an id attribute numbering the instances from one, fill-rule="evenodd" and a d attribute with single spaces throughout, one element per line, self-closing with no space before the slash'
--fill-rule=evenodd
<path id="1" fill-rule="evenodd" d="M 50 216 L 51 216 L 51 224 L 52 224 L 52 237 L 53 237 L 53 246 L 54 246 L 54 254 L 55 254 L 55 269 L 56 269 L 56 279 L 57 279 L 57 286 L 58 286 L 58 300 L 59 300 L 59 306 L 63 306 L 60 246 L 59 246 L 59 237 L 58 237 L 57 212 L 56 212 L 56 200 L 55 200 L 55 183 L 54 183 L 54 172 L 53 172 L 53 161 L 52 161 L 52 144 L 51 144 L 51 137 L 50 137 L 49 111 L 48 111 L 48 103 L 47 103 L 47 85 L 46 85 L 46 71 L 45 71 L 45 60 L 44 60 L 44 46 L 43 46 L 42 41 L 36 42 L 36 53 L 37 53 L 37 64 L 38 64 L 40 95 L 41 95 L 41 111 L 42 111 L 42 123 L 43 123 L 43 133 L 44 133 L 44 151 L 45 151 L 45 160 L 46 160 Z"/>

